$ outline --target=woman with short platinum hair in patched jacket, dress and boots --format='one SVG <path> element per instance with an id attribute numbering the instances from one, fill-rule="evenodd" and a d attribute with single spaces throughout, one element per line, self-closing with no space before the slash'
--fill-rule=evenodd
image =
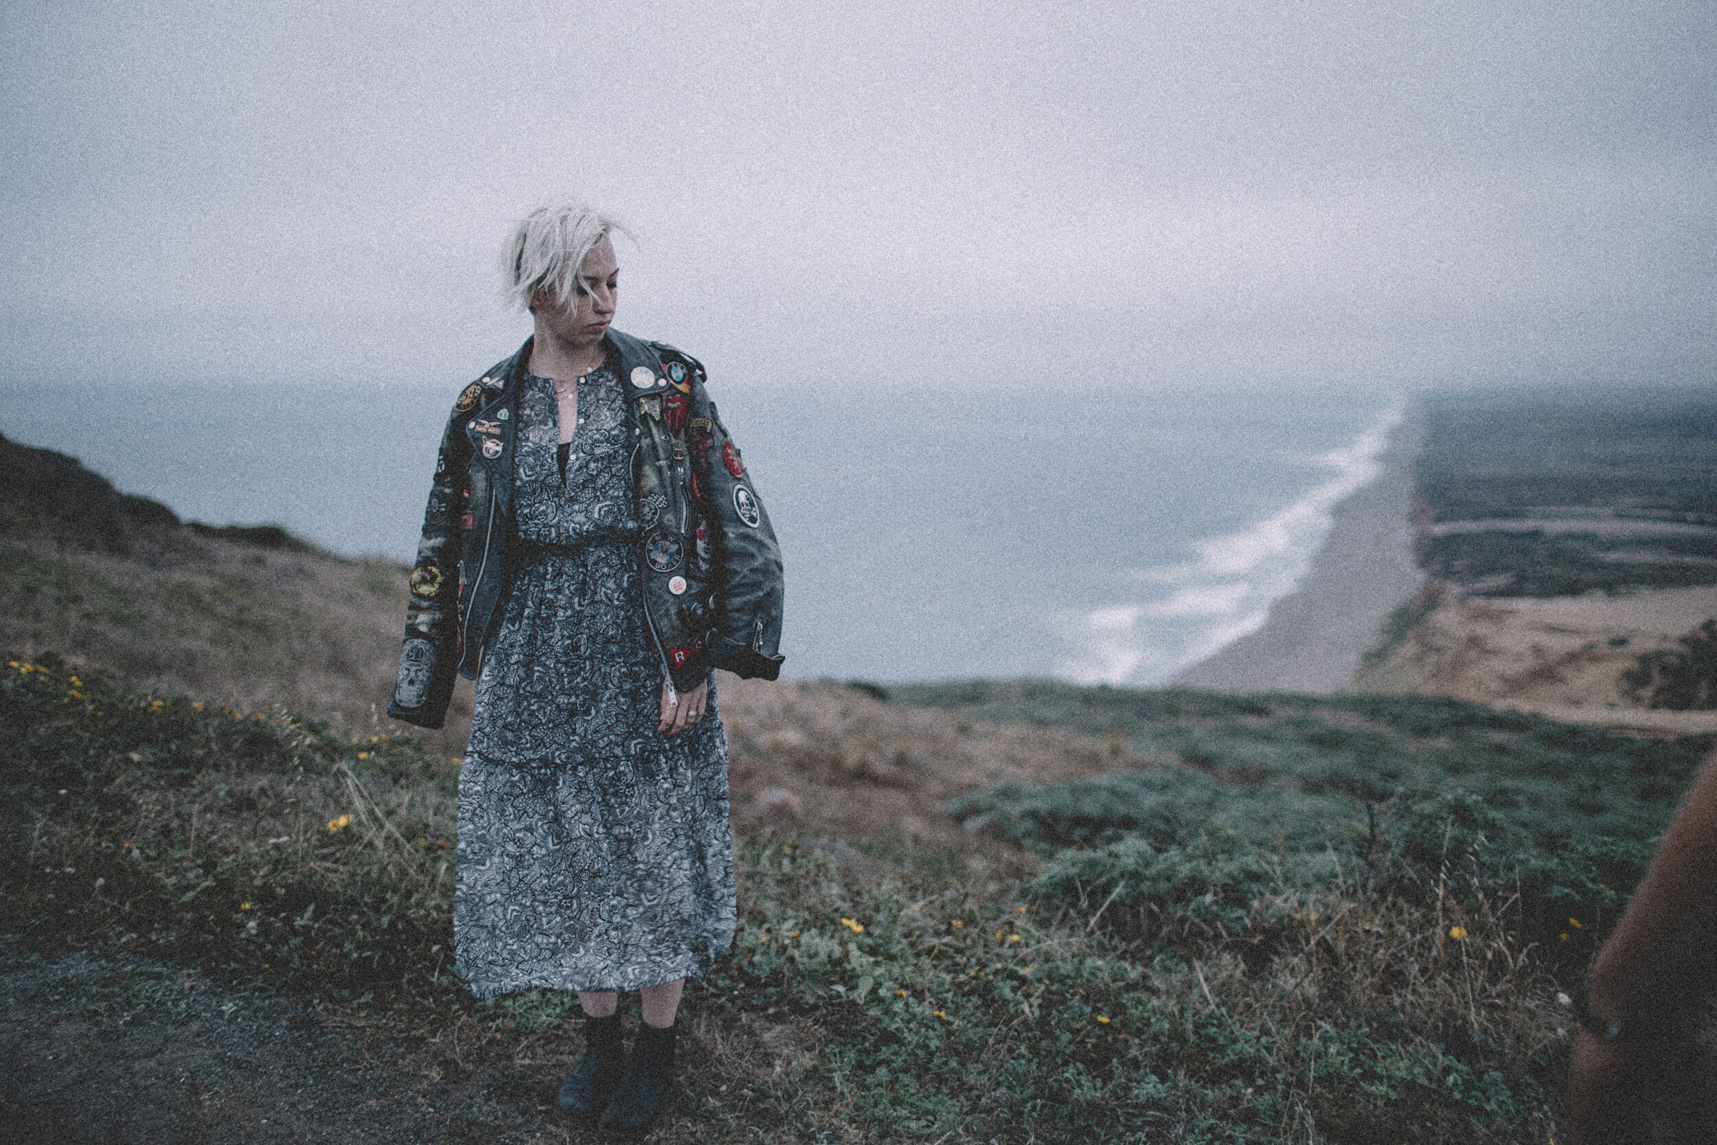
<path id="1" fill-rule="evenodd" d="M 733 939 L 713 668 L 776 678 L 781 554 L 704 367 L 610 323 L 616 223 L 544 208 L 512 237 L 536 331 L 441 438 L 388 714 L 440 728 L 476 676 L 453 936 L 472 994 L 577 991 L 561 1109 L 639 1130 L 675 1013 Z M 481 666 L 481 671 L 479 671 Z M 618 991 L 640 991 L 625 1059 Z"/>

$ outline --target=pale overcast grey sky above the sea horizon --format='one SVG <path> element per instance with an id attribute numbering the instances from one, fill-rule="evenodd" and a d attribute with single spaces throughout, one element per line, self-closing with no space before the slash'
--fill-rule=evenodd
<path id="1" fill-rule="evenodd" d="M 1708 378 L 1717 5 L 9 0 L 0 378 L 472 376 L 546 196 L 716 378 Z"/>

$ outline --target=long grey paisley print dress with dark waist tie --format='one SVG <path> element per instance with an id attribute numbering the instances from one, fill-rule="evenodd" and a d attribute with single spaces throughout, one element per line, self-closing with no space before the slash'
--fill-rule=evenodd
<path id="1" fill-rule="evenodd" d="M 458 776 L 458 973 L 477 997 L 702 977 L 733 941 L 728 748 L 656 731 L 625 397 L 579 388 L 565 484 L 553 383 L 527 374 L 510 584 Z"/>

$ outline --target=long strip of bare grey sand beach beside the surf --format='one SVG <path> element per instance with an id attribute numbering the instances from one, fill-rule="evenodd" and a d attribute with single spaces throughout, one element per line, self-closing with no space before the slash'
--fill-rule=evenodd
<path id="1" fill-rule="evenodd" d="M 1305 580 L 1271 606 L 1257 632 L 1181 669 L 1171 687 L 1223 692 L 1343 690 L 1377 645 L 1389 613 L 1425 573 L 1413 560 L 1413 458 L 1423 417 L 1410 410 L 1379 455 L 1382 472 L 1331 512 Z"/>

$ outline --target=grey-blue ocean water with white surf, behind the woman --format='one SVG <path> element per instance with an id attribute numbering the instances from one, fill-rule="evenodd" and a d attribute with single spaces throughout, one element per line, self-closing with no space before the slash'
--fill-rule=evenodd
<path id="1" fill-rule="evenodd" d="M 5 386 L 0 433 L 211 524 L 409 561 L 458 386 Z M 1161 683 L 1262 625 L 1401 417 L 1377 391 L 714 385 L 792 676 Z M 403 620 L 403 616 L 402 616 Z"/>

